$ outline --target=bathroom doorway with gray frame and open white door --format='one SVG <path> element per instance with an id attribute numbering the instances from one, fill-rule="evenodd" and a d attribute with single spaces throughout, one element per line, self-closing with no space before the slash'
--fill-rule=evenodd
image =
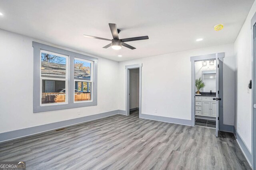
<path id="1" fill-rule="evenodd" d="M 224 53 L 190 57 L 191 126 L 223 129 Z"/>

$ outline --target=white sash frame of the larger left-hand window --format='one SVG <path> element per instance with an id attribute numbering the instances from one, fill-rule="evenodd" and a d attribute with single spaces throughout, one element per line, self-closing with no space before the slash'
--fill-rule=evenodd
<path id="1" fill-rule="evenodd" d="M 41 75 L 41 68 L 42 68 L 42 53 L 47 53 L 47 54 L 50 54 L 50 55 L 56 55 L 56 56 L 59 56 L 59 57 L 64 57 L 66 58 L 66 77 L 65 78 L 50 78 L 50 77 L 42 77 Z M 67 55 L 62 55 L 62 54 L 59 54 L 59 53 L 53 53 L 51 51 L 46 51 L 46 50 L 40 50 L 40 106 L 51 106 L 51 105 L 62 105 L 62 104 L 68 104 L 68 72 L 69 72 L 69 69 L 68 69 L 68 59 L 69 59 L 69 56 Z M 65 81 L 65 85 L 66 85 L 66 90 L 65 90 L 65 102 L 61 102 L 61 103 L 48 103 L 48 104 L 42 104 L 42 80 L 60 80 L 60 81 Z M 55 84 L 55 82 L 54 82 Z M 55 87 L 54 87 L 55 88 Z"/>

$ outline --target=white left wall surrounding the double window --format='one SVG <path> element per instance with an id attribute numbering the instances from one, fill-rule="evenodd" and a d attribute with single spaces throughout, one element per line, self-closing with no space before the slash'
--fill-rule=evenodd
<path id="1" fill-rule="evenodd" d="M 98 106 L 33 113 L 32 41 L 30 37 L 0 30 L 0 133 L 118 109 L 118 62 L 97 57 Z"/>

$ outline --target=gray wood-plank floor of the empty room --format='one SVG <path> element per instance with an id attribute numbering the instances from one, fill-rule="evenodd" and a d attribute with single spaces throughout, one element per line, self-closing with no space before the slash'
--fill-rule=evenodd
<path id="1" fill-rule="evenodd" d="M 234 135 L 113 115 L 0 144 L 0 161 L 34 169 L 248 170 Z"/>

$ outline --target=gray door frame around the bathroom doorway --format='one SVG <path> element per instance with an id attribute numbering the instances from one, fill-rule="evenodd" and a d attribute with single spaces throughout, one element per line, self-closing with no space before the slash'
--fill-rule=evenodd
<path id="1" fill-rule="evenodd" d="M 219 58 L 219 90 L 223 92 L 223 58 L 225 57 L 225 53 L 214 53 L 208 55 L 198 55 L 190 57 L 191 61 L 191 126 L 195 126 L 195 80 L 196 80 L 196 70 L 195 70 L 195 62 L 196 61 L 203 61 L 203 60 L 216 60 L 216 55 Z M 219 98 L 223 99 L 223 94 L 220 94 Z M 219 101 L 220 109 L 219 109 L 219 129 L 220 131 L 223 130 L 223 100 Z"/>

